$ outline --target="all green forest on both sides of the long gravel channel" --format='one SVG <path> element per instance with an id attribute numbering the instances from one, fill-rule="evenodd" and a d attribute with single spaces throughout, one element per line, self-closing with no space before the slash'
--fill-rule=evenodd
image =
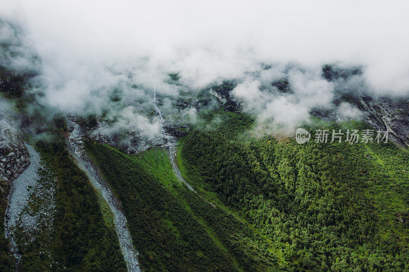
<path id="1" fill-rule="evenodd" d="M 31 97 L 21 93 L 15 107 L 24 112 Z M 224 109 L 199 117 L 176 153 L 195 192 L 177 180 L 163 147 L 126 155 L 85 141 L 121 201 L 144 271 L 409 270 L 407 150 L 255 135 L 251 116 Z M 112 214 L 66 149 L 64 118 L 29 121 L 40 124 L 37 134 L 52 135 L 26 140 L 55 178 L 58 224 L 50 244 L 20 240 L 18 269 L 125 271 Z M 304 128 L 369 127 L 311 117 Z M 14 270 L 3 220 L 0 236 L 0 270 Z M 40 254 L 44 248 L 51 256 Z"/>

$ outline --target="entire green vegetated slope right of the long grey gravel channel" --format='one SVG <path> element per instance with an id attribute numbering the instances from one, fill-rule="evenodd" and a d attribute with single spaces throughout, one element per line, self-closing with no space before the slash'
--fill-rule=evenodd
<path id="1" fill-rule="evenodd" d="M 143 269 L 409 269 L 407 151 L 255 137 L 240 113 L 202 120 L 177 152 L 197 193 L 177 181 L 165 149 L 125 155 L 86 142 L 123 204 Z"/>

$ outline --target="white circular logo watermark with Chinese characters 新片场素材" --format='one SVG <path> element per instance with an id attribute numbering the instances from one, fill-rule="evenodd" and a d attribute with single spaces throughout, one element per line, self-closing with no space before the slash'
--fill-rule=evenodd
<path id="1" fill-rule="evenodd" d="M 369 143 L 369 142 L 388 142 L 388 137 L 389 137 L 389 132 L 390 130 L 386 131 L 375 131 L 375 130 L 370 130 L 370 129 L 364 129 L 364 130 L 316 130 L 314 134 L 314 142 L 316 143 L 332 143 L 332 142 L 338 142 L 341 143 L 343 141 L 349 142 L 350 144 L 358 143 L 358 142 L 363 142 L 363 143 Z M 310 140 L 311 134 L 302 128 L 297 129 L 296 131 L 296 141 L 297 143 L 306 143 Z"/>

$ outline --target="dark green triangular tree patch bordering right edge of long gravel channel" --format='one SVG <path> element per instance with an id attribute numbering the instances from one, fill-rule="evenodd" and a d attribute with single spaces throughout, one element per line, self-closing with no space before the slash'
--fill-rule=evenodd
<path id="1" fill-rule="evenodd" d="M 87 142 L 86 149 L 122 202 L 144 270 L 234 270 L 205 229 L 149 169 L 106 145 Z"/>

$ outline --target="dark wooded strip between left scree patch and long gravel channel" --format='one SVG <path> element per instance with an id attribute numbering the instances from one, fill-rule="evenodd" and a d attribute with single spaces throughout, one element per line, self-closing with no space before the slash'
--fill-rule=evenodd
<path id="1" fill-rule="evenodd" d="M 53 239 L 51 245 L 47 245 L 51 248 L 53 262 L 48 269 L 126 271 L 115 229 L 106 220 L 109 216 L 101 212 L 98 192 L 66 150 L 61 133 L 63 119 L 57 120 L 56 125 L 53 129 L 55 139 L 37 143 L 41 156 L 56 175 L 57 211 Z M 46 256 L 39 252 L 43 246 L 33 243 L 31 248 L 24 249 L 19 269 L 42 267 Z"/>

